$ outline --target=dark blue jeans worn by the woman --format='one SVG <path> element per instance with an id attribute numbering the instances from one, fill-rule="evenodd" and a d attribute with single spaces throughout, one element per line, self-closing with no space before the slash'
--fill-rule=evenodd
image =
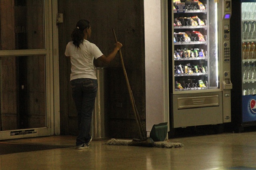
<path id="1" fill-rule="evenodd" d="M 74 79 L 70 83 L 78 117 L 76 146 L 79 146 L 89 142 L 91 137 L 92 111 L 98 91 L 98 81 L 96 79 Z"/>

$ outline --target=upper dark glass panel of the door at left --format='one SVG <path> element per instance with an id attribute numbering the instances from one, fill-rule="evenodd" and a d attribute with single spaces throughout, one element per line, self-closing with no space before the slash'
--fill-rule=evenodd
<path id="1" fill-rule="evenodd" d="M 43 49 L 44 0 L 1 0 L 1 50 Z"/>

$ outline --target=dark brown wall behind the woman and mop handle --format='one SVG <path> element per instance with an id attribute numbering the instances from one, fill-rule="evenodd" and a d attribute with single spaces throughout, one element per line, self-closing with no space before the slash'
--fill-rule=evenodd
<path id="1" fill-rule="evenodd" d="M 64 14 L 64 23 L 59 24 L 61 134 L 77 134 L 76 109 L 69 83 L 70 59 L 64 56 L 64 51 L 66 43 L 71 40 L 70 34 L 80 19 L 90 21 L 92 27 L 90 42 L 95 43 L 105 55 L 114 47 L 115 40 L 112 34 L 114 28 L 118 41 L 123 44 L 124 64 L 145 128 L 143 0 L 58 0 L 58 12 Z M 110 109 L 106 114 L 110 118 L 108 121 L 110 137 L 139 137 L 119 55 L 110 65 L 98 62 L 96 65 L 108 67 L 108 78 L 105 81 L 109 83 L 107 104 Z"/>

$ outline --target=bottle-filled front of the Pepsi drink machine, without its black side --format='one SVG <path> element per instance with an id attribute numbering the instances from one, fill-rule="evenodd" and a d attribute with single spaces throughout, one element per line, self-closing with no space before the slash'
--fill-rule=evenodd
<path id="1" fill-rule="evenodd" d="M 242 122 L 256 121 L 256 1 L 243 0 L 241 6 Z"/>

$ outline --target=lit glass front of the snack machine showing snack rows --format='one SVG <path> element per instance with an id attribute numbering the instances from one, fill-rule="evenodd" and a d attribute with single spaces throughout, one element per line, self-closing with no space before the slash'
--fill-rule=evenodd
<path id="1" fill-rule="evenodd" d="M 175 93 L 219 89 L 218 3 L 173 1 Z"/>

